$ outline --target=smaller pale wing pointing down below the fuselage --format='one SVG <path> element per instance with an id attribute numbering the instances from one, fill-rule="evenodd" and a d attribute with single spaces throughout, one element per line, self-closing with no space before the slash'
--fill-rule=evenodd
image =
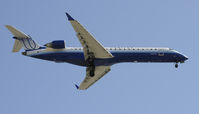
<path id="1" fill-rule="evenodd" d="M 97 80 L 102 78 L 110 70 L 111 70 L 110 66 L 98 66 L 95 68 L 95 76 L 91 77 L 89 75 L 89 70 L 87 68 L 86 69 L 86 77 L 85 77 L 84 81 L 80 84 L 79 87 L 78 86 L 76 86 L 76 87 L 78 87 L 78 89 L 80 89 L 80 90 L 85 90 L 85 89 L 89 88 L 91 85 L 93 85 Z"/>

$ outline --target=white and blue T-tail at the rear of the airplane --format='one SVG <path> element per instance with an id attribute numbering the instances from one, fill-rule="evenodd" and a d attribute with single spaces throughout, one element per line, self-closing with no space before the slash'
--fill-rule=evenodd
<path id="1" fill-rule="evenodd" d="M 15 43 L 12 52 L 19 52 L 23 47 L 25 50 L 39 49 L 40 45 L 37 44 L 32 38 L 25 33 L 17 30 L 16 28 L 6 25 L 6 28 L 14 35 Z"/>

